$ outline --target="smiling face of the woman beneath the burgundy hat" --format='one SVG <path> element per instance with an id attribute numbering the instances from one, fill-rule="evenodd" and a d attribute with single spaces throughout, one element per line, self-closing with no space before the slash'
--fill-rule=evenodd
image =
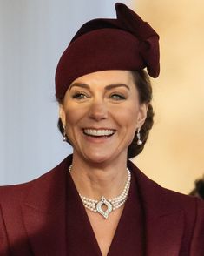
<path id="1" fill-rule="evenodd" d="M 74 154 L 93 163 L 127 159 L 128 145 L 144 123 L 130 71 L 98 71 L 78 77 L 60 105 L 60 118 Z"/>

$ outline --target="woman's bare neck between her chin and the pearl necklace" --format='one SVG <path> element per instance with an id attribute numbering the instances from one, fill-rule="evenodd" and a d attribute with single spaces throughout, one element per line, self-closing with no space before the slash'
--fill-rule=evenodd
<path id="1" fill-rule="evenodd" d="M 91 199 L 118 196 L 128 179 L 127 159 L 112 161 L 111 165 L 95 165 L 73 156 L 71 171 L 77 191 Z"/>

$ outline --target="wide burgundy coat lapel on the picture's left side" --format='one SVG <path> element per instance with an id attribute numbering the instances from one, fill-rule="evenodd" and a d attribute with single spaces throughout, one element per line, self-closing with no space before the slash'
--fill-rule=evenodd
<path id="1" fill-rule="evenodd" d="M 67 161 L 34 181 L 22 205 L 23 222 L 34 255 L 66 255 Z"/>

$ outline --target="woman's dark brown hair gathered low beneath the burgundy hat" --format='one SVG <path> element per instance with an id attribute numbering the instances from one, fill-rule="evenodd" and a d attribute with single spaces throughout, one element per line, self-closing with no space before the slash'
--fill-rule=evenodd
<path id="1" fill-rule="evenodd" d="M 137 145 L 137 137 L 135 132 L 135 137 L 132 143 L 128 146 L 128 158 L 133 158 L 137 156 L 144 148 L 144 145 L 148 139 L 148 133 L 151 130 L 154 124 L 154 111 L 151 104 L 152 100 L 152 86 L 149 80 L 148 74 L 146 71 L 132 71 L 132 75 L 135 79 L 135 85 L 137 90 L 139 91 L 139 97 L 141 103 L 148 103 L 148 113 L 147 118 L 144 124 L 141 127 L 141 141 L 142 145 Z M 63 99 L 57 99 L 59 103 L 62 103 Z M 58 128 L 63 135 L 63 123 L 61 118 L 58 119 Z M 67 138 L 67 142 L 71 145 L 69 139 Z"/>

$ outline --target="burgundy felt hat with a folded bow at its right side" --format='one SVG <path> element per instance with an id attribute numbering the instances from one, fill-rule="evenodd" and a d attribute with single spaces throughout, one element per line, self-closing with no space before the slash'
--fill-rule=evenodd
<path id="1" fill-rule="evenodd" d="M 117 18 L 98 18 L 83 24 L 72 38 L 56 68 L 56 98 L 83 75 L 106 70 L 138 71 L 147 67 L 158 77 L 159 36 L 123 3 L 116 3 Z"/>

